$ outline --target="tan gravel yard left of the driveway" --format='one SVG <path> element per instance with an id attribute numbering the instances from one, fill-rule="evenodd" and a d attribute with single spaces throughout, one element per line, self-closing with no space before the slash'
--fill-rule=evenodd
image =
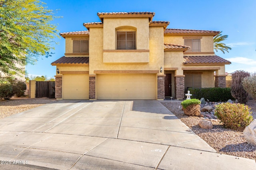
<path id="1" fill-rule="evenodd" d="M 10 115 L 54 102 L 54 98 L 11 98 L 0 100 L 0 119 Z"/>

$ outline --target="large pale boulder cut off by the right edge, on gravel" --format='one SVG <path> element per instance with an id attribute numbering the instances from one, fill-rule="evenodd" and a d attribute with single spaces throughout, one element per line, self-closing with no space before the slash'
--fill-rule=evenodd
<path id="1" fill-rule="evenodd" d="M 243 133 L 247 143 L 256 146 L 256 119 L 245 127 Z"/>

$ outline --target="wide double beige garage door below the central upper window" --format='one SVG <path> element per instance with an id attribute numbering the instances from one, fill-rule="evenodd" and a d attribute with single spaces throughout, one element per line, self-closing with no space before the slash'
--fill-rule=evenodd
<path id="1" fill-rule="evenodd" d="M 155 74 L 98 74 L 98 99 L 156 99 Z"/>

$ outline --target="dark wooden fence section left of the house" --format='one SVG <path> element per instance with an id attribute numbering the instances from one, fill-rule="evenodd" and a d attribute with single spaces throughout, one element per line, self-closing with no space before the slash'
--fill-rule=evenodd
<path id="1" fill-rule="evenodd" d="M 36 98 L 55 98 L 55 81 L 36 81 Z"/>

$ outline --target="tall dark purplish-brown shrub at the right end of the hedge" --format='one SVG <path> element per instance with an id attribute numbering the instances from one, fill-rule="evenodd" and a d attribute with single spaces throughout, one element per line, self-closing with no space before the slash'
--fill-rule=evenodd
<path id="1" fill-rule="evenodd" d="M 246 104 L 248 101 L 248 93 L 242 85 L 242 80 L 248 76 L 250 73 L 243 70 L 232 72 L 231 94 L 241 104 Z"/>

